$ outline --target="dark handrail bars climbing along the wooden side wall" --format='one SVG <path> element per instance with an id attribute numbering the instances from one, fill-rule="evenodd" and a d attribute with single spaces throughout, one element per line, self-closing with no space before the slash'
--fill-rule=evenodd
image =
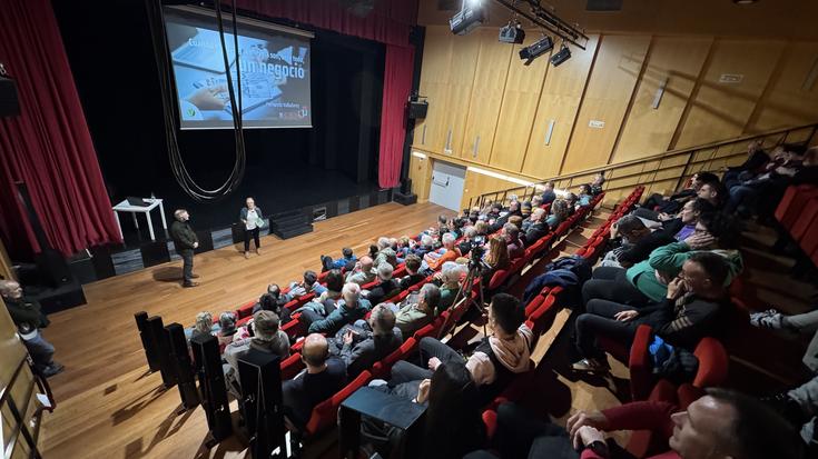
<path id="1" fill-rule="evenodd" d="M 632 160 L 628 160 L 628 161 L 610 163 L 610 164 L 605 164 L 605 166 L 600 166 L 600 167 L 595 167 L 595 168 L 585 169 L 585 170 L 578 171 L 578 172 L 571 172 L 571 173 L 565 173 L 565 174 L 562 174 L 562 176 L 556 176 L 556 177 L 553 177 L 551 179 L 546 179 L 546 180 L 542 180 L 542 181 L 540 181 L 538 183 L 533 183 L 531 186 L 519 186 L 519 187 L 507 188 L 507 189 L 504 189 L 504 190 L 491 191 L 491 192 L 482 193 L 480 196 L 476 196 L 476 197 L 471 198 L 470 201 L 469 201 L 469 208 L 472 208 L 474 206 L 483 207 L 483 204 L 485 203 L 486 199 L 492 199 L 492 201 L 497 201 L 497 200 L 505 201 L 505 199 L 509 197 L 509 194 L 518 194 L 518 197 L 520 199 L 531 198 L 531 197 L 533 197 L 538 192 L 538 190 L 536 190 L 536 186 L 538 184 L 543 184 L 543 183 L 549 182 L 549 181 L 556 182 L 556 181 L 568 180 L 569 181 L 568 187 L 570 187 L 571 184 L 573 184 L 573 179 L 575 179 L 578 177 L 591 176 L 593 173 L 603 172 L 603 171 L 615 171 L 615 170 L 620 170 L 620 169 L 624 169 L 624 168 L 630 168 L 630 167 L 634 167 L 634 166 L 639 166 L 639 164 L 643 164 L 644 166 L 644 164 L 647 164 L 649 162 L 652 162 L 652 161 L 667 161 L 669 159 L 679 158 L 679 157 L 683 157 L 683 156 L 687 154 L 688 156 L 688 160 L 683 164 L 682 173 L 680 174 L 680 177 L 678 179 L 678 182 L 677 182 L 677 188 L 678 188 L 681 184 L 681 182 L 684 179 L 684 177 L 687 177 L 687 174 L 690 172 L 690 167 L 691 166 L 700 164 L 700 163 L 703 163 L 703 162 L 711 162 L 713 160 L 733 159 L 736 157 L 746 156 L 747 154 L 746 151 L 739 151 L 739 152 L 731 152 L 731 153 L 728 153 L 728 154 L 725 154 L 725 156 L 720 156 L 720 157 L 717 158 L 716 157 L 716 152 L 721 147 L 733 146 L 736 143 L 742 143 L 742 142 L 747 142 L 747 141 L 750 141 L 750 140 L 753 140 L 753 139 L 759 139 L 759 138 L 763 138 L 766 140 L 769 137 L 779 136 L 779 134 L 783 134 L 783 137 L 781 139 L 778 139 L 775 143 L 776 144 L 777 143 L 783 143 L 783 142 L 786 142 L 787 137 L 791 132 L 802 131 L 802 130 L 807 130 L 807 129 L 811 129 L 812 130 L 812 132 L 807 137 L 807 140 L 806 140 L 806 141 L 809 141 L 810 139 L 812 139 L 815 137 L 816 131 L 818 130 L 818 122 L 802 124 L 802 126 L 797 126 L 797 127 L 773 129 L 773 130 L 770 130 L 770 131 L 767 131 L 767 132 L 761 132 L 761 133 L 752 133 L 752 134 L 739 136 L 739 137 L 736 137 L 736 138 L 732 138 L 732 139 L 720 140 L 720 141 L 716 141 L 716 142 L 710 142 L 710 143 L 704 143 L 704 144 L 696 146 L 696 147 L 687 147 L 687 148 L 680 148 L 680 149 L 674 149 L 674 150 L 668 150 L 668 151 L 666 151 L 663 153 L 651 154 L 651 156 L 644 157 L 644 158 L 638 158 L 638 159 L 632 159 Z M 713 150 L 713 152 L 712 152 L 712 154 L 711 154 L 710 158 L 693 160 L 693 158 L 696 157 L 696 153 L 697 152 L 707 151 L 707 150 Z M 638 176 L 652 174 L 653 177 L 651 179 L 647 180 L 647 181 L 641 181 L 640 180 L 640 184 L 652 184 L 652 183 L 656 183 L 656 182 L 663 182 L 663 181 L 670 180 L 668 178 L 657 179 L 657 177 L 660 176 L 660 172 L 662 172 L 662 171 L 670 170 L 670 169 L 678 169 L 678 168 L 682 168 L 682 164 L 670 164 L 670 166 L 663 166 L 663 167 L 660 166 L 660 167 L 657 167 L 657 168 L 652 168 L 650 171 L 644 171 L 644 169 L 642 169 L 639 172 L 627 173 L 627 174 L 621 176 L 621 177 L 615 177 L 615 178 L 614 177 L 608 177 L 607 180 L 610 181 L 612 178 L 613 179 L 617 179 L 617 180 L 620 180 L 620 179 L 633 178 L 633 177 L 638 177 Z M 614 187 L 614 188 L 607 188 L 607 190 L 608 191 L 612 191 L 612 190 L 615 191 L 615 190 L 618 190 L 620 188 L 628 188 L 628 187 L 631 187 L 631 186 L 632 184 L 628 184 L 628 186 L 623 186 L 623 187 L 619 187 L 619 188 L 617 188 L 617 187 Z M 501 194 L 502 194 L 502 198 L 500 198 Z"/>

